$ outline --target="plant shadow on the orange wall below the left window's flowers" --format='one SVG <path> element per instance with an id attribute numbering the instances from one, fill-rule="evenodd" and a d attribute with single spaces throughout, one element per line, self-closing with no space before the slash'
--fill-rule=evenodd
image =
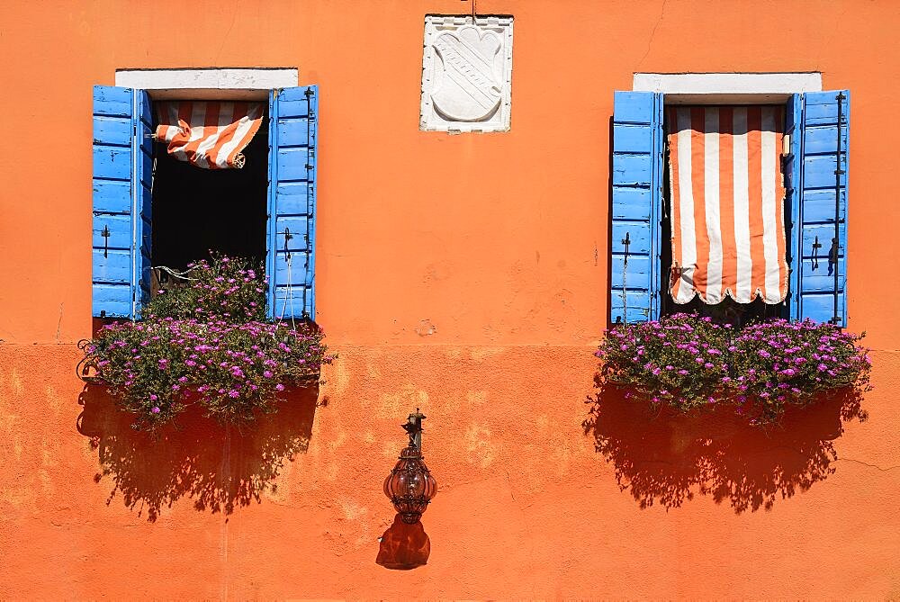
<path id="1" fill-rule="evenodd" d="M 229 515 L 275 492 L 284 463 L 306 452 L 318 397 L 318 383 L 290 391 L 275 414 L 243 431 L 223 427 L 193 406 L 176 427 L 151 435 L 131 427 L 130 414 L 105 387 L 87 385 L 78 398 L 84 409 L 77 427 L 98 453 L 94 481 L 112 481 L 107 505 L 121 496 L 125 506 L 152 522 L 186 496 L 197 510 Z"/>

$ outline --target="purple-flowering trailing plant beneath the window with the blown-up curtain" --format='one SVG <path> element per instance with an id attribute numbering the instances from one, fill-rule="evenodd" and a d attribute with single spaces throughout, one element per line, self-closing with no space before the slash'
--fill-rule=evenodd
<path id="1" fill-rule="evenodd" d="M 135 414 L 134 427 L 157 428 L 192 402 L 222 422 L 246 423 L 334 359 L 317 325 L 264 321 L 260 268 L 228 256 L 188 268 L 188 284 L 158 292 L 144 319 L 107 324 L 84 346 L 83 365 Z"/>

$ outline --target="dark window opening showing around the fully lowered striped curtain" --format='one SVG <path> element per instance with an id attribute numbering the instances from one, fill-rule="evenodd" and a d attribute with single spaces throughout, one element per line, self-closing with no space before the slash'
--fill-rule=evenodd
<path id="1" fill-rule="evenodd" d="M 663 131 L 669 131 L 668 126 L 667 115 Z M 694 299 L 684 304 L 676 303 L 672 299 L 669 292 L 672 277 L 671 183 L 669 181 L 671 166 L 669 164 L 669 145 L 665 144 L 664 147 L 664 163 L 662 166 L 662 231 L 660 234 L 660 263 L 662 268 L 660 269 L 660 315 L 697 313 L 700 316 L 709 317 L 719 324 L 733 324 L 736 327 L 768 319 L 787 318 L 787 300 L 776 305 L 768 305 L 759 298 L 751 303 L 738 303 L 731 297 L 725 297 L 720 303 L 709 305 L 700 301 L 699 297 L 694 297 Z M 784 220 L 786 226 L 791 221 L 790 207 L 787 200 L 784 203 Z"/>

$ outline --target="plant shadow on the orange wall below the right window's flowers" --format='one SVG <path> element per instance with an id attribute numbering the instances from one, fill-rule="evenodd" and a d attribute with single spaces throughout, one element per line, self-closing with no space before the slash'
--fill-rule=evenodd
<path id="1" fill-rule="evenodd" d="M 616 387 L 594 397 L 586 435 L 616 469 L 619 488 L 641 508 L 678 508 L 700 495 L 727 501 L 735 513 L 770 509 L 777 499 L 806 491 L 834 472 L 833 441 L 843 422 L 865 419 L 853 395 L 791 409 L 779 426 L 763 429 L 731 412 L 683 415 L 626 400 Z"/>

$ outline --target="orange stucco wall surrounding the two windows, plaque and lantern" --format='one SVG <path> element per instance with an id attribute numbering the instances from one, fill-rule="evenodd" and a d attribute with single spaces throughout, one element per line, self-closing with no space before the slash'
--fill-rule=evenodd
<path id="1" fill-rule="evenodd" d="M 421 132 L 423 16 L 469 10 L 0 7 L 0 598 L 900 597 L 900 6 L 479 0 L 515 15 L 512 130 Z M 153 445 L 74 371 L 92 328 L 91 85 L 211 66 L 320 85 L 318 310 L 340 359 L 318 407 L 299 394 L 244 436 L 189 417 Z M 852 93 L 869 420 L 842 429 L 826 404 L 765 435 L 610 400 L 585 432 L 612 91 L 635 71 L 808 70 Z M 415 406 L 440 482 L 431 554 L 389 571 L 381 483 Z"/>

